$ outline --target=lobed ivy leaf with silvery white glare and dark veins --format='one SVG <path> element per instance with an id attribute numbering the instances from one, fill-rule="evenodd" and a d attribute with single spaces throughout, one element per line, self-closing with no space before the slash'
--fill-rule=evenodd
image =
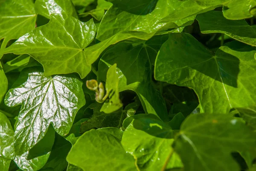
<path id="1" fill-rule="evenodd" d="M 85 104 L 82 82 L 75 77 L 55 75 L 44 77 L 41 70 L 21 72 L 17 82 L 27 81 L 9 90 L 5 103 L 21 104 L 15 130 L 15 152 L 23 154 L 39 142 L 52 123 L 61 136 L 66 135 L 77 111 Z"/>

